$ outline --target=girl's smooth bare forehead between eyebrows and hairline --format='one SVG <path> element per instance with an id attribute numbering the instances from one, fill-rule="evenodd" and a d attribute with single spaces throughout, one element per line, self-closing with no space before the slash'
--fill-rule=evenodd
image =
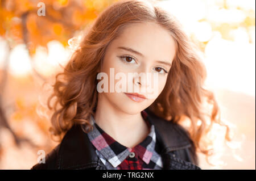
<path id="1" fill-rule="evenodd" d="M 111 47 L 129 47 L 154 60 L 170 60 L 175 55 L 175 40 L 156 23 L 132 23 L 125 27 Z"/>

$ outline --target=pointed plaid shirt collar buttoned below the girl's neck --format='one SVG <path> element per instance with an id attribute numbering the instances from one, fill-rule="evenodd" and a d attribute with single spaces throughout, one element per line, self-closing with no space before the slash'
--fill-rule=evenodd
<path id="1" fill-rule="evenodd" d="M 146 120 L 147 113 L 141 112 L 143 119 Z M 115 141 L 114 138 L 109 136 L 105 131 L 103 131 L 94 120 L 94 117 L 91 116 L 91 124 L 93 125 L 93 130 L 88 133 L 88 137 L 90 142 L 95 146 L 95 148 L 107 159 L 113 167 L 117 167 L 126 157 L 134 151 L 138 154 L 145 163 L 149 163 L 152 155 L 155 153 L 155 142 L 156 142 L 156 134 L 155 127 L 150 122 L 150 133 L 147 137 L 138 145 L 134 146 L 134 148 L 127 148 L 126 146 L 119 144 L 119 142 Z"/>

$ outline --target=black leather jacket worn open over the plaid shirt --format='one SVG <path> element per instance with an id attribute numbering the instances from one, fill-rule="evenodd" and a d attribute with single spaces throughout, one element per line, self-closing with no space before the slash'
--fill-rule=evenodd
<path id="1" fill-rule="evenodd" d="M 155 125 L 156 140 L 162 145 L 163 169 L 201 169 L 192 140 L 178 124 L 166 121 L 150 112 L 148 120 Z M 46 163 L 37 163 L 31 169 L 96 169 L 106 170 L 96 154 L 87 134 L 74 124 L 63 140 L 46 155 Z"/>

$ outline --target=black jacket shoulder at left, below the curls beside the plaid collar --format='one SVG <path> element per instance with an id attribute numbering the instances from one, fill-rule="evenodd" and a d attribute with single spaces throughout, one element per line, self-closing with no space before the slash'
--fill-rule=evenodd
<path id="1" fill-rule="evenodd" d="M 69 166 L 75 167 L 74 164 L 82 165 L 90 162 L 92 155 L 93 149 L 88 136 L 82 131 L 80 124 L 74 124 L 65 133 L 60 144 L 44 157 L 45 163 L 37 163 L 32 166 L 31 170 L 56 170 Z"/>

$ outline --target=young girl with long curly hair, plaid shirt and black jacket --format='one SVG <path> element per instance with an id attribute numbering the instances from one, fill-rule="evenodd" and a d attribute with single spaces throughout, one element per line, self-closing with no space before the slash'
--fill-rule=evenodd
<path id="1" fill-rule="evenodd" d="M 155 1 L 114 3 L 56 76 L 48 107 L 56 97 L 51 132 L 60 144 L 32 169 L 201 169 L 196 151 L 209 151 L 199 145 L 207 129 L 204 98 L 213 104 L 211 123 L 218 112 L 205 77 L 174 16 Z M 153 95 L 143 91 L 152 82 Z M 179 124 L 184 117 L 189 129 Z"/>

